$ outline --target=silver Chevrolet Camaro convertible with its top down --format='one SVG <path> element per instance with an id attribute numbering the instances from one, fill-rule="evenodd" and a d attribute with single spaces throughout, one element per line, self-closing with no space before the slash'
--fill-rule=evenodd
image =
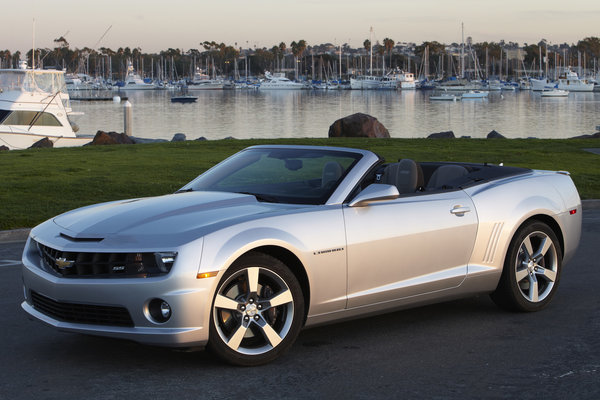
<path id="1" fill-rule="evenodd" d="M 480 293 L 540 310 L 580 235 L 566 172 L 255 146 L 174 194 L 35 227 L 22 307 L 63 331 L 258 365 L 304 326 Z"/>

